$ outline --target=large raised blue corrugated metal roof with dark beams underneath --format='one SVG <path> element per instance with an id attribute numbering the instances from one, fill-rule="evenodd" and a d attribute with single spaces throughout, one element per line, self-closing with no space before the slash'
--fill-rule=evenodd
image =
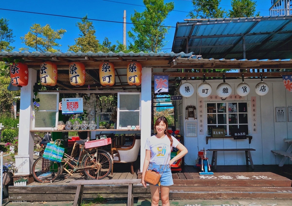
<path id="1" fill-rule="evenodd" d="M 178 22 L 172 51 L 206 59 L 242 59 L 243 37 L 247 59 L 290 59 L 292 15 Z"/>

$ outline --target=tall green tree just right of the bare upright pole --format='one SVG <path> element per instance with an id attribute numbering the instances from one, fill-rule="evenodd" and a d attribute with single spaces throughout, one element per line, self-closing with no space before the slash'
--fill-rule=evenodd
<path id="1" fill-rule="evenodd" d="M 166 45 L 165 36 L 168 33 L 167 27 L 163 27 L 163 21 L 174 8 L 173 2 L 164 4 L 163 0 L 143 0 L 146 9 L 139 13 L 135 10 L 131 15 L 134 23 L 132 31 L 128 35 L 133 39 L 134 44 L 129 48 L 143 52 L 158 53 Z"/>

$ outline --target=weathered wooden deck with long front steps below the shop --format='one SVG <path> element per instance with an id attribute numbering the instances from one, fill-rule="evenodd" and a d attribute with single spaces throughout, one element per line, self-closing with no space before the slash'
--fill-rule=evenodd
<path id="1" fill-rule="evenodd" d="M 114 173 L 105 179 L 137 179 L 138 167 L 130 173 L 130 164 L 120 163 L 114 166 Z M 254 169 L 246 165 L 217 165 L 213 175 L 199 175 L 199 168 L 183 166 L 181 172 L 173 172 L 174 185 L 170 188 L 171 199 L 291 199 L 292 165 L 255 165 Z M 53 183 L 31 183 L 28 186 L 9 186 L 9 196 L 25 196 L 27 201 L 65 201 L 73 200 L 77 186 L 68 186 L 68 182 L 85 179 L 79 173 L 65 179 L 65 172 Z M 149 187 L 133 186 L 134 196 L 150 198 Z M 84 186 L 83 198 L 101 195 L 104 198 L 126 198 L 127 186 L 102 185 Z M 11 199 L 13 201 L 13 199 Z"/>

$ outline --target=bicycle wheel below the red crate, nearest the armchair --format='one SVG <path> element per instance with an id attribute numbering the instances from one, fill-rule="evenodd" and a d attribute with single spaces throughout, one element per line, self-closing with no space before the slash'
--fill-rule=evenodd
<path id="1" fill-rule="evenodd" d="M 103 151 L 98 151 L 97 155 L 96 151 L 91 151 L 89 154 L 91 157 L 85 156 L 83 159 L 83 167 L 92 166 L 93 168 L 84 170 L 85 174 L 90 179 L 105 178 L 112 170 L 112 159 Z"/>

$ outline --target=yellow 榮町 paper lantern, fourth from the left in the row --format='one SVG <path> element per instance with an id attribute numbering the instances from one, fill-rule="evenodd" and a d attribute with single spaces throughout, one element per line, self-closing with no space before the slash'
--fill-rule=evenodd
<path id="1" fill-rule="evenodd" d="M 112 86 L 114 85 L 114 64 L 110 62 L 102 62 L 99 65 L 99 80 L 100 84 L 103 86 Z"/>

